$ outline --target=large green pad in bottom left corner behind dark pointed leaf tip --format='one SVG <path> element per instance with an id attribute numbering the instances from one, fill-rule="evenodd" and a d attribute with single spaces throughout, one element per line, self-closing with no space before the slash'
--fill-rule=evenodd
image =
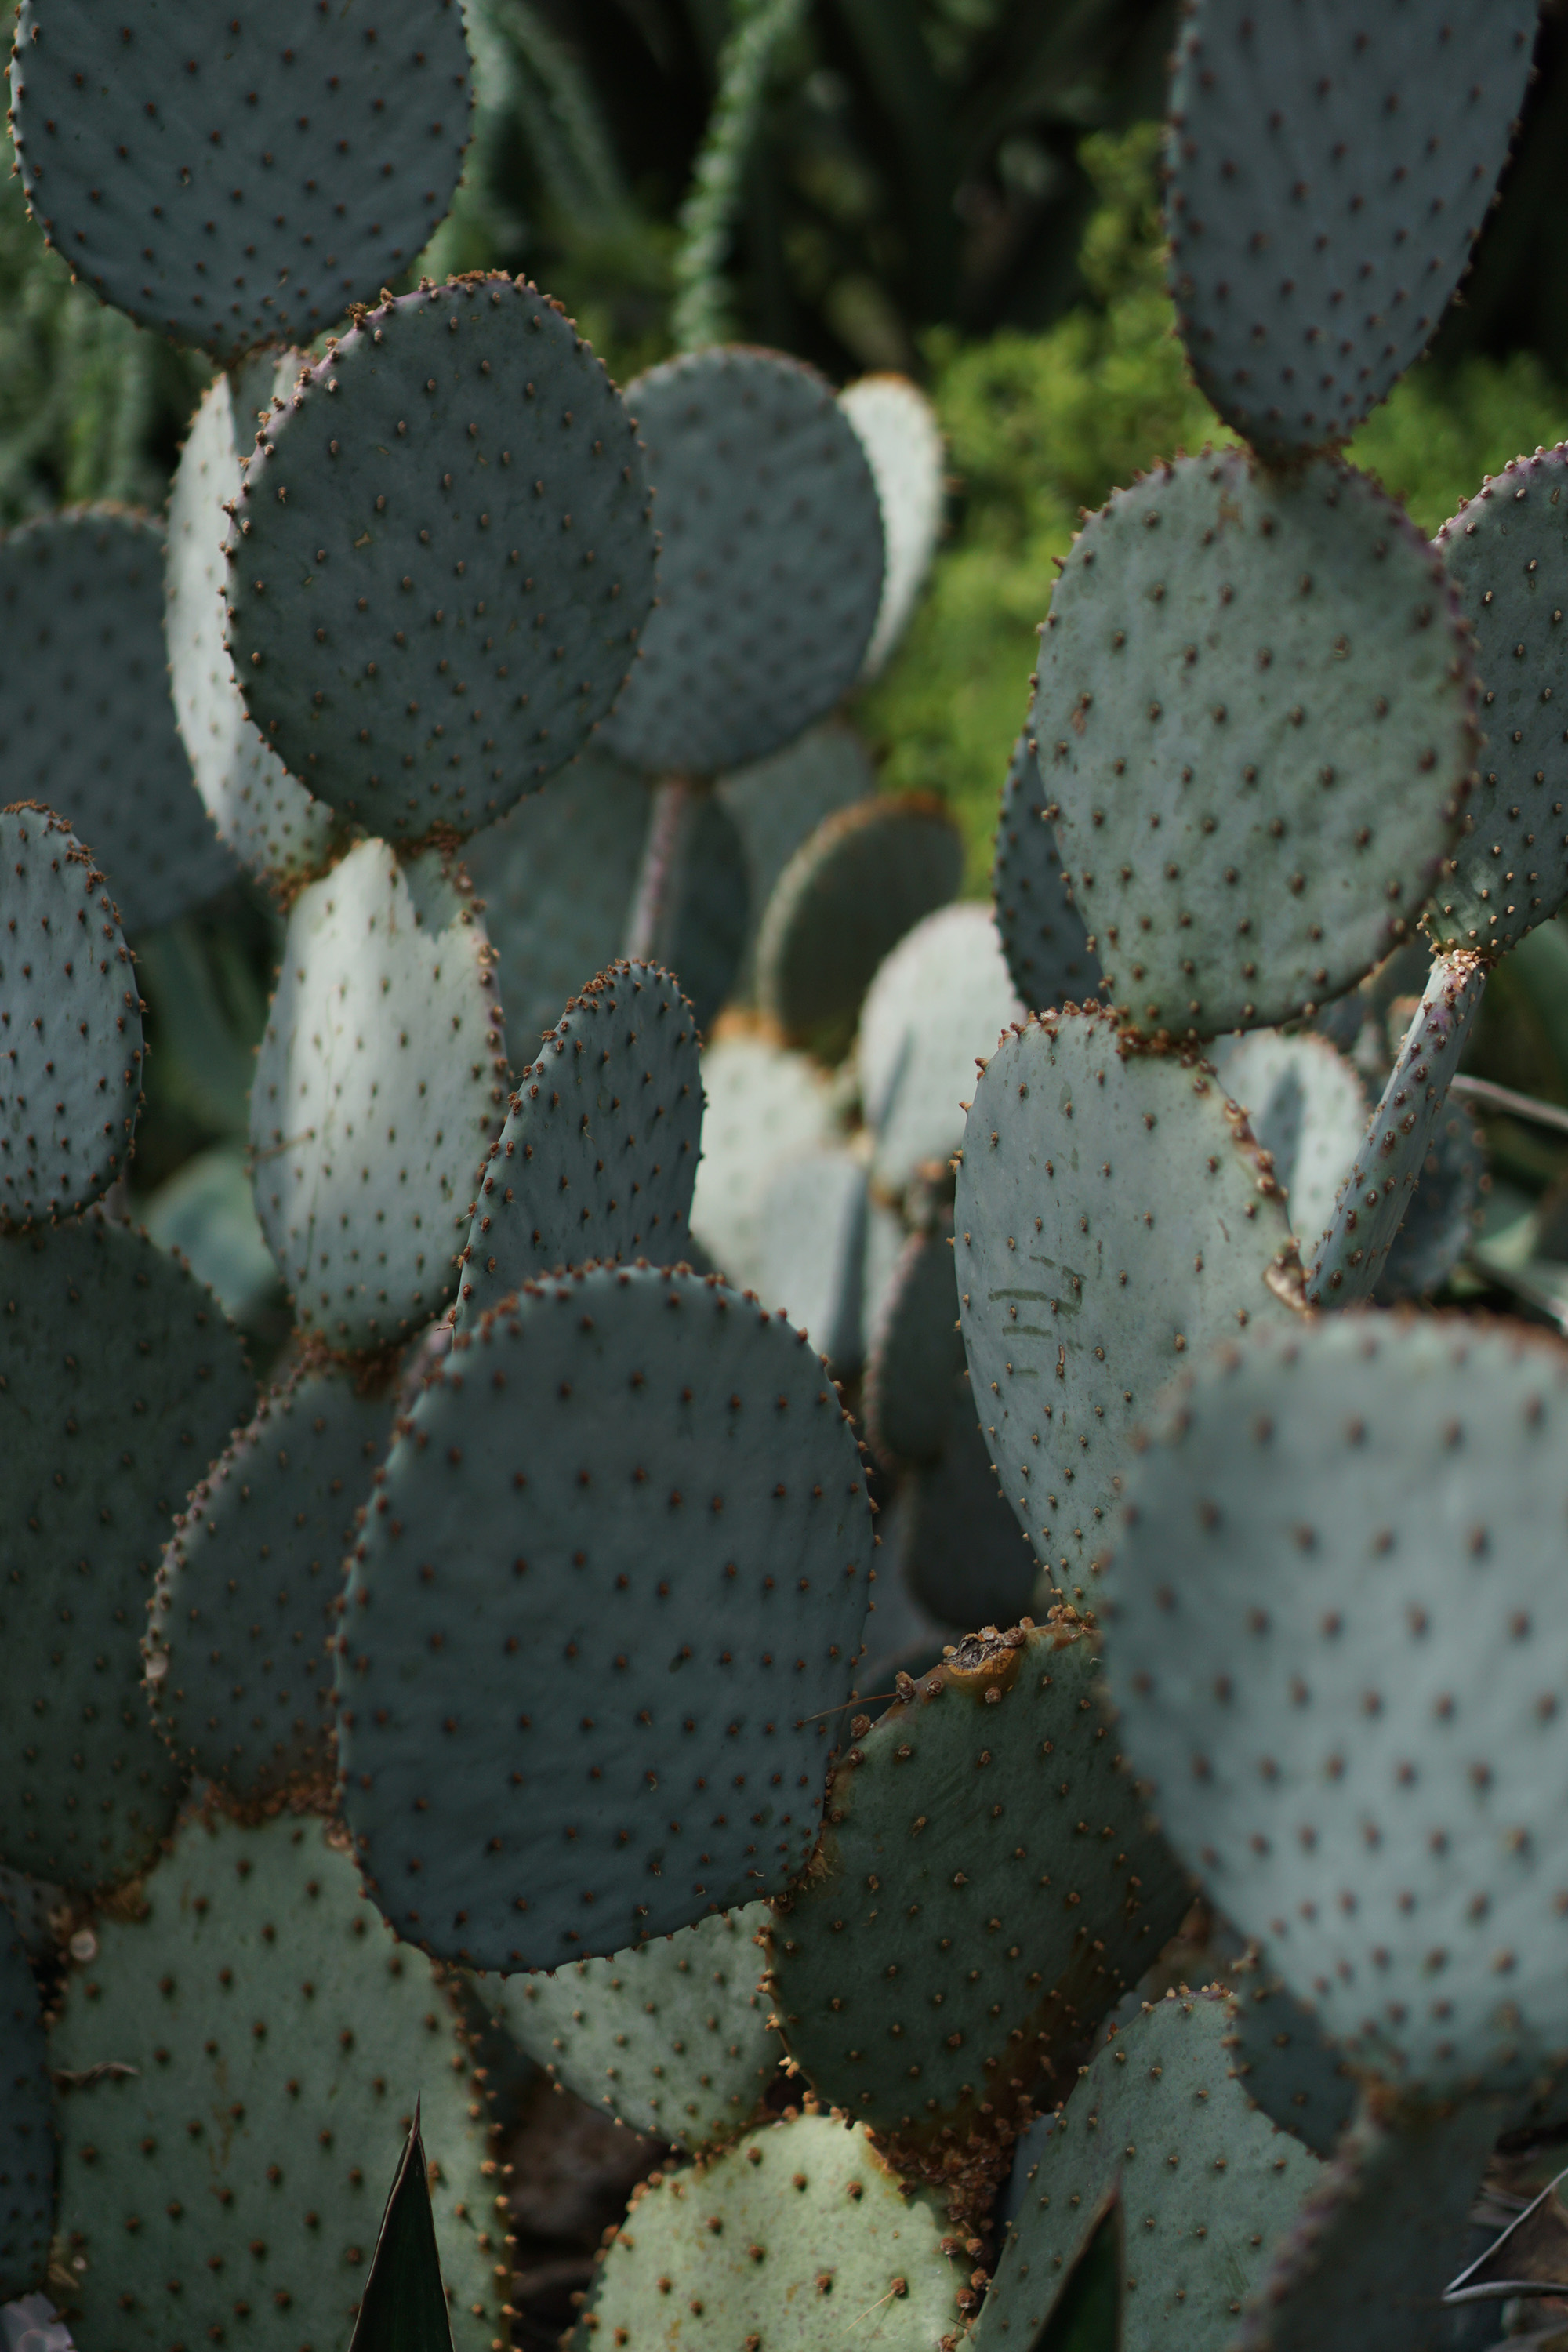
<path id="1" fill-rule="evenodd" d="M 482 2093 L 341 1830 L 190 1818 L 80 1943 L 49 2063 L 82 2338 L 346 2345 L 418 2100 L 451 2340 L 491 2352 L 510 2258 Z"/>

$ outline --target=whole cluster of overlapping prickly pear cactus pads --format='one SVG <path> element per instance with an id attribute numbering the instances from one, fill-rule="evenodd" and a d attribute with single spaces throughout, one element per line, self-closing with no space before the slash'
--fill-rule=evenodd
<path id="1" fill-rule="evenodd" d="M 24 0 L 24 188 L 216 374 L 167 534 L 0 543 L 0 2291 L 501 2352 L 536 2063 L 661 2150 L 576 2352 L 1027 2352 L 1105 2244 L 1128 2352 L 1479 2352 L 1568 2129 L 1568 1355 L 1415 1303 L 1568 891 L 1568 447 L 1436 543 L 1335 449 L 1533 0 L 1190 0 L 1227 433 L 1072 546 L 990 910 L 835 715 L 914 390 L 386 292 L 456 0 L 120 14 Z M 136 938 L 235 870 L 261 1395 L 125 1185 Z"/>

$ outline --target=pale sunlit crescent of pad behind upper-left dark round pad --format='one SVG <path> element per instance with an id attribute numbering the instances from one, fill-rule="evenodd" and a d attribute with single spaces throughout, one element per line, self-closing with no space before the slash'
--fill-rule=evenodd
<path id="1" fill-rule="evenodd" d="M 292 390 L 303 365 L 296 350 L 266 353 L 209 383 L 169 489 L 165 642 L 174 717 L 219 840 L 261 882 L 320 873 L 334 835 L 331 809 L 289 776 L 252 724 L 223 619 L 228 508 L 240 496 L 259 416 Z"/>

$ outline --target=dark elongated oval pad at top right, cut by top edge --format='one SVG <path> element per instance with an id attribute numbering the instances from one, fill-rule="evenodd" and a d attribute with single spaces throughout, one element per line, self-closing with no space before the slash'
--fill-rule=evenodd
<path id="1" fill-rule="evenodd" d="M 1432 339 L 1507 162 L 1535 0 L 1197 0 L 1166 134 L 1171 292 L 1220 416 L 1349 440 Z"/>

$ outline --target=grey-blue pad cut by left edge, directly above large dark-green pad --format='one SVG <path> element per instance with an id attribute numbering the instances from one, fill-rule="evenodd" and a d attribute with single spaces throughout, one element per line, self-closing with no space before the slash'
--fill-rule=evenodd
<path id="1" fill-rule="evenodd" d="M 103 875 L 47 809 L 0 816 L 0 1228 L 73 1216 L 129 1160 L 141 993 Z"/>

